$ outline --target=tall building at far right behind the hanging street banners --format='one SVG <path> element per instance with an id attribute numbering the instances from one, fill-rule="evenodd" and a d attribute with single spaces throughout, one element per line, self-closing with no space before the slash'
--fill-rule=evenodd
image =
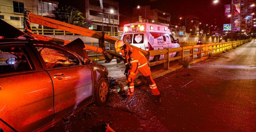
<path id="1" fill-rule="evenodd" d="M 233 32 L 239 32 L 240 26 L 236 26 L 236 20 L 245 19 L 245 26 L 241 26 L 241 30 L 246 32 L 250 32 L 253 28 L 253 19 L 255 18 L 253 13 L 253 7 L 251 7 L 253 0 L 233 0 L 233 4 L 241 4 L 241 16 L 240 15 L 233 15 L 231 19 L 233 19 Z M 255 8 L 255 7 L 254 7 Z"/>

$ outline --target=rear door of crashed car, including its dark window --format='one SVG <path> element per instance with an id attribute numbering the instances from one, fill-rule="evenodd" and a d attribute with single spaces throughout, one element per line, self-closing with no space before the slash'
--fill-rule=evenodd
<path id="1" fill-rule="evenodd" d="M 53 83 L 29 44 L 0 44 L 1 129 L 34 131 L 53 118 Z"/>

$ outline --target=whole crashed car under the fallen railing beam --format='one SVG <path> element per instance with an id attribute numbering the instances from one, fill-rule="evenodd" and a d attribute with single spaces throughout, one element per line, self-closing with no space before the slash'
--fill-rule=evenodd
<path id="1" fill-rule="evenodd" d="M 90 103 L 104 105 L 108 81 L 105 66 L 59 44 L 0 39 L 0 131 L 44 131 Z"/>

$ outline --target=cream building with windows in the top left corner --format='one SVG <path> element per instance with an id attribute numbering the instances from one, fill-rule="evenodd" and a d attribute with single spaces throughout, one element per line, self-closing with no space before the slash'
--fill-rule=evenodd
<path id="1" fill-rule="evenodd" d="M 16 28 L 23 28 L 23 11 L 29 10 L 36 15 L 54 17 L 53 10 L 59 3 L 53 0 L 1 0 L 0 19 Z M 38 24 L 31 23 L 37 27 Z"/>

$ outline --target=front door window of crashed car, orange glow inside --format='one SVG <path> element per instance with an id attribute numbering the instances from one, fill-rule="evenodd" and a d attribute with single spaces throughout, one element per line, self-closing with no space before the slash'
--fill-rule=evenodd
<path id="1" fill-rule="evenodd" d="M 36 47 L 48 68 L 80 65 L 74 55 L 52 47 Z"/>

